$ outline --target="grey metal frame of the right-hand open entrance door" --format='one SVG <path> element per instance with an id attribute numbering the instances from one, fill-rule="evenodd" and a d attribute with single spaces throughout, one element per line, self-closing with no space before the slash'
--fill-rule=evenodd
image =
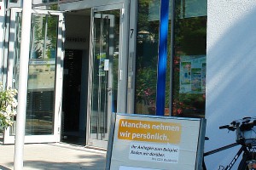
<path id="1" fill-rule="evenodd" d="M 125 35 L 128 35 L 128 14 L 125 14 L 125 3 L 118 3 L 113 5 L 105 5 L 101 7 L 91 8 L 91 21 L 90 21 L 90 71 L 89 71 L 89 90 L 88 90 L 88 117 L 87 117 L 87 130 L 86 130 L 86 144 L 92 145 L 94 147 L 107 149 L 108 141 L 90 139 L 90 109 L 91 109 L 91 88 L 92 88 L 92 69 L 93 69 L 93 59 L 92 59 L 92 45 L 93 45 L 93 23 L 94 23 L 94 14 L 95 12 L 109 11 L 109 10 L 120 10 L 120 23 L 119 23 L 119 76 L 118 76 L 118 103 L 117 111 L 125 112 L 126 111 L 126 83 L 127 83 L 127 53 L 128 53 L 128 43 Z M 128 36 L 127 36 L 128 37 Z M 119 99 L 122 97 L 122 99 Z M 108 102 L 109 104 L 109 102 Z M 111 104 L 108 105 L 111 108 Z M 110 121 L 112 111 L 108 111 L 108 118 Z M 109 131 L 108 124 L 108 131 Z"/>

